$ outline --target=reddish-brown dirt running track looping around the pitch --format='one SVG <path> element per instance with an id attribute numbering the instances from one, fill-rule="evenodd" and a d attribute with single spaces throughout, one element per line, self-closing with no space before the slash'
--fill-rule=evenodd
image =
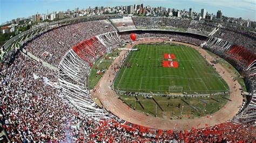
<path id="1" fill-rule="evenodd" d="M 145 42 L 157 42 L 157 41 L 140 41 L 134 42 L 132 45 L 128 44 L 126 48 L 132 48 L 134 45 Z M 158 41 L 159 42 L 159 41 Z M 173 41 L 166 41 L 173 42 Z M 198 48 L 197 46 L 193 46 L 190 44 L 185 44 L 183 42 L 173 42 L 177 44 L 182 44 L 186 46 L 190 46 L 205 56 L 208 63 L 211 64 L 212 56 L 208 54 L 204 49 Z M 125 58 L 125 53 L 127 51 L 122 51 L 120 55 L 113 61 L 112 65 L 121 66 L 121 62 Z M 163 130 L 191 130 L 194 128 L 204 128 L 209 126 L 214 126 L 216 124 L 224 123 L 227 120 L 232 119 L 236 113 L 239 111 L 239 107 L 242 105 L 242 95 L 241 95 L 241 85 L 237 81 L 232 81 L 232 76 L 225 70 L 219 63 L 215 65 L 216 70 L 219 72 L 221 77 L 227 82 L 231 95 L 230 99 L 232 102 L 227 102 L 227 104 L 221 108 L 219 111 L 213 113 L 211 118 L 201 117 L 197 119 L 179 119 L 179 120 L 171 120 L 171 119 L 163 119 L 158 117 L 146 116 L 143 113 L 137 112 L 133 109 L 130 109 L 129 106 L 122 103 L 114 90 L 111 89 L 111 84 L 116 75 L 113 75 L 114 69 L 109 67 L 109 69 L 105 72 L 102 78 L 100 78 L 99 82 L 95 86 L 94 91 L 91 92 L 92 97 L 97 97 L 102 102 L 104 108 L 113 115 L 116 115 L 120 119 L 129 121 L 130 123 L 142 125 L 150 128 L 159 128 Z M 225 74 L 223 74 L 225 71 Z M 235 85 L 235 88 L 234 88 Z M 237 89 L 237 90 L 236 90 Z M 206 125 L 207 124 L 207 125 Z"/>

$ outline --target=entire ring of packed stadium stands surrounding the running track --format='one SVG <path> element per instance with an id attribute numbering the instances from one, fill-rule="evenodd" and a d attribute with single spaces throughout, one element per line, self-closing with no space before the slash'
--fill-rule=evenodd
<path id="1" fill-rule="evenodd" d="M 181 31 L 191 28 L 211 32 L 215 27 L 179 18 L 132 17 L 132 20 L 138 28 Z M 123 24 L 118 26 L 118 23 L 134 28 L 130 18 L 112 22 L 119 30 L 123 30 Z M 195 34 L 144 31 L 137 36 L 138 40 L 165 38 L 194 45 L 206 41 Z M 42 66 L 40 61 L 20 51 L 7 53 L 1 66 L 1 120 L 8 138 L 12 142 L 254 141 L 256 78 L 255 66 L 250 65 L 255 61 L 255 35 L 223 26 L 204 45 L 224 59 L 232 60 L 246 74 L 250 96 L 235 117 L 235 122 L 244 124 L 228 121 L 191 131 L 163 131 L 134 125 L 114 117 L 92 100 L 86 85 L 90 65 L 123 41 L 130 41 L 130 32 L 117 33 L 106 20 L 96 20 L 53 28 L 25 43 L 25 49 L 59 71 Z"/>

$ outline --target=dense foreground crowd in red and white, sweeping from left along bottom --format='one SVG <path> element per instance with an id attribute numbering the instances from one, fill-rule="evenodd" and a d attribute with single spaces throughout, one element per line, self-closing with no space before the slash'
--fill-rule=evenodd
<path id="1" fill-rule="evenodd" d="M 91 118 L 74 108 L 60 90 L 45 84 L 55 71 L 19 54 L 2 67 L 4 128 L 11 141 L 245 141 L 255 138 L 250 124 L 224 123 L 191 131 L 162 131 L 116 117 Z M 35 76 L 35 74 L 37 76 Z"/>

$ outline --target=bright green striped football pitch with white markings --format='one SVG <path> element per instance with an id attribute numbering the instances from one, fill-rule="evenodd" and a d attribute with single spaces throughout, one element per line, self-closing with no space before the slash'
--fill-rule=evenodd
<path id="1" fill-rule="evenodd" d="M 196 49 L 184 45 L 136 45 L 120 69 L 114 89 L 158 94 L 215 94 L 228 85 Z M 178 68 L 163 67 L 164 53 Z M 172 60 L 169 60 L 170 62 Z"/>

